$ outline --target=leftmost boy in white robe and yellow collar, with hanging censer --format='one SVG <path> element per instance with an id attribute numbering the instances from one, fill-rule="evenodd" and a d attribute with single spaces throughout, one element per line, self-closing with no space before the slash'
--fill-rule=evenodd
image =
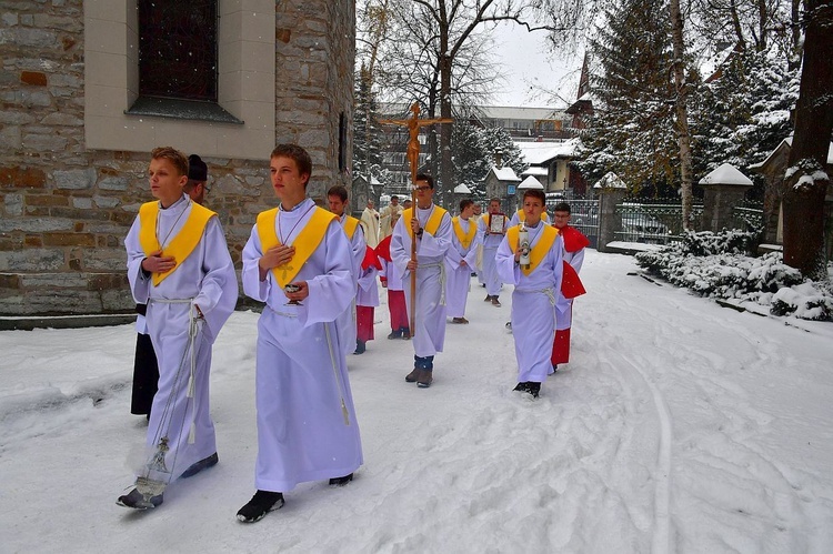
<path id="1" fill-rule="evenodd" d="M 139 209 L 124 246 L 128 280 L 159 361 L 159 391 L 148 425 L 154 450 L 137 486 L 118 504 L 145 510 L 162 503 L 171 480 L 218 461 L 209 413 L 211 344 L 238 300 L 238 281 L 217 214 L 183 193 L 188 160 L 170 147 L 151 152 L 157 202 Z"/>

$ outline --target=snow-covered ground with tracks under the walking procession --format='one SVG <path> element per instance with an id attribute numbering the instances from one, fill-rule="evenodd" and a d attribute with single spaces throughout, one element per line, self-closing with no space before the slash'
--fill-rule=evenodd
<path id="1" fill-rule="evenodd" d="M 833 325 L 739 313 L 590 251 L 572 363 L 515 384 L 511 309 L 449 325 L 428 389 L 407 341 L 349 360 L 364 466 L 245 525 L 257 314 L 214 346 L 220 464 L 147 513 L 116 505 L 145 422 L 132 326 L 0 332 L 0 552 L 833 552 Z"/>

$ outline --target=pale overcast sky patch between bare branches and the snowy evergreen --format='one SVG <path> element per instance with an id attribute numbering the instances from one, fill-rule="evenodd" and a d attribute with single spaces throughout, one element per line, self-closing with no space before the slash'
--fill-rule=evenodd
<path id="1" fill-rule="evenodd" d="M 543 31 L 526 32 L 523 27 L 504 23 L 494 31 L 495 64 L 506 81 L 496 90 L 493 105 L 550 107 L 554 98 L 541 92 L 551 91 L 564 99 L 554 108 L 564 108 L 575 100 L 581 73 L 581 57 L 558 57 L 548 53 L 546 34 Z"/>

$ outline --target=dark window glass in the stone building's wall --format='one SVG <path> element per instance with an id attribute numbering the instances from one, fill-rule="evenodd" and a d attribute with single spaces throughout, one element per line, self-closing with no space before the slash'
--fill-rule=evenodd
<path id="1" fill-rule="evenodd" d="M 139 0 L 139 94 L 217 102 L 217 0 Z"/>

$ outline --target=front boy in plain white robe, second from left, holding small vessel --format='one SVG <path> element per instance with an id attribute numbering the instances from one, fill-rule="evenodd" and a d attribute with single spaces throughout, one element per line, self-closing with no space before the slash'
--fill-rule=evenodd
<path id="1" fill-rule="evenodd" d="M 335 323 L 355 295 L 352 251 L 332 212 L 307 198 L 310 154 L 270 157 L 278 208 L 258 215 L 243 249 L 243 291 L 265 302 L 258 321 L 258 491 L 243 523 L 283 506 L 299 483 L 345 485 L 362 464 L 344 349 Z"/>

